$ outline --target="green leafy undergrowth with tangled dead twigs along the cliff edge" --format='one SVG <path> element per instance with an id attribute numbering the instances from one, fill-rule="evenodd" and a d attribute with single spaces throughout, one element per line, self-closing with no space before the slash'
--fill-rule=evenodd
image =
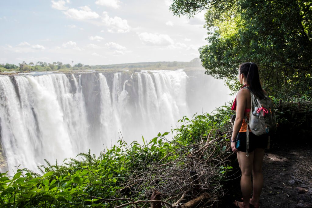
<path id="1" fill-rule="evenodd" d="M 63 165 L 41 165 L 42 175 L 18 169 L 13 177 L 0 176 L 2 207 L 132 207 L 149 200 L 154 191 L 174 204 L 208 193 L 209 203 L 223 196 L 229 166 L 227 151 L 232 114 L 223 106 L 217 114 L 183 117 L 181 126 L 144 144 L 122 139 L 100 156 L 89 153 L 65 159 Z M 196 183 L 195 183 L 196 177 Z M 193 180 L 194 179 L 194 180 Z M 170 198 L 171 197 L 171 198 Z M 141 207 L 150 203 L 142 202 Z"/>

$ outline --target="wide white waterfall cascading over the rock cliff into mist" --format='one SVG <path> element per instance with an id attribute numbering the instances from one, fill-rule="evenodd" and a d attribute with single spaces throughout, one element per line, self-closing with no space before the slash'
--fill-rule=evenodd
<path id="1" fill-rule="evenodd" d="M 227 94 L 203 71 L 0 75 L 0 156 L 7 163 L 0 170 L 97 154 L 114 145 L 119 130 L 127 142 L 152 139 L 201 107 L 212 111 Z"/>

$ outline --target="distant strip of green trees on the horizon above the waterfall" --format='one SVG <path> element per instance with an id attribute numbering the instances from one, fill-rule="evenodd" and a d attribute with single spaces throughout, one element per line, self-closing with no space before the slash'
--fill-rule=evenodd
<path id="1" fill-rule="evenodd" d="M 110 65 L 85 65 L 82 63 L 78 64 L 63 64 L 62 62 L 46 63 L 38 61 L 36 64 L 33 62 L 19 64 L 0 64 L 0 72 L 4 71 L 54 71 L 54 70 L 96 70 L 96 69 L 167 69 L 167 68 L 188 68 L 188 67 L 199 67 L 201 66 L 200 59 L 195 58 L 189 62 L 179 61 L 163 61 L 163 62 L 141 62 L 141 63 L 129 63 L 129 64 L 110 64 Z"/>

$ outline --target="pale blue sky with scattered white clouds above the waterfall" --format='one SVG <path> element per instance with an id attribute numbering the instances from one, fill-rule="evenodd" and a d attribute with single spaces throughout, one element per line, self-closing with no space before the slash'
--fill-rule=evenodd
<path id="1" fill-rule="evenodd" d="M 0 1 L 0 64 L 190 61 L 206 45 L 204 12 L 174 16 L 171 0 Z"/>

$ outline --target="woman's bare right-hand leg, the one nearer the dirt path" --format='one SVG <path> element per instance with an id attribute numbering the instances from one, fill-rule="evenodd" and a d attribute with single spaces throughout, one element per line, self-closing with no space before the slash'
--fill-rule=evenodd
<path id="1" fill-rule="evenodd" d="M 254 151 L 253 169 L 252 169 L 252 185 L 253 194 L 250 203 L 259 207 L 259 198 L 263 187 L 262 162 L 264 157 L 264 149 L 257 148 Z"/>

